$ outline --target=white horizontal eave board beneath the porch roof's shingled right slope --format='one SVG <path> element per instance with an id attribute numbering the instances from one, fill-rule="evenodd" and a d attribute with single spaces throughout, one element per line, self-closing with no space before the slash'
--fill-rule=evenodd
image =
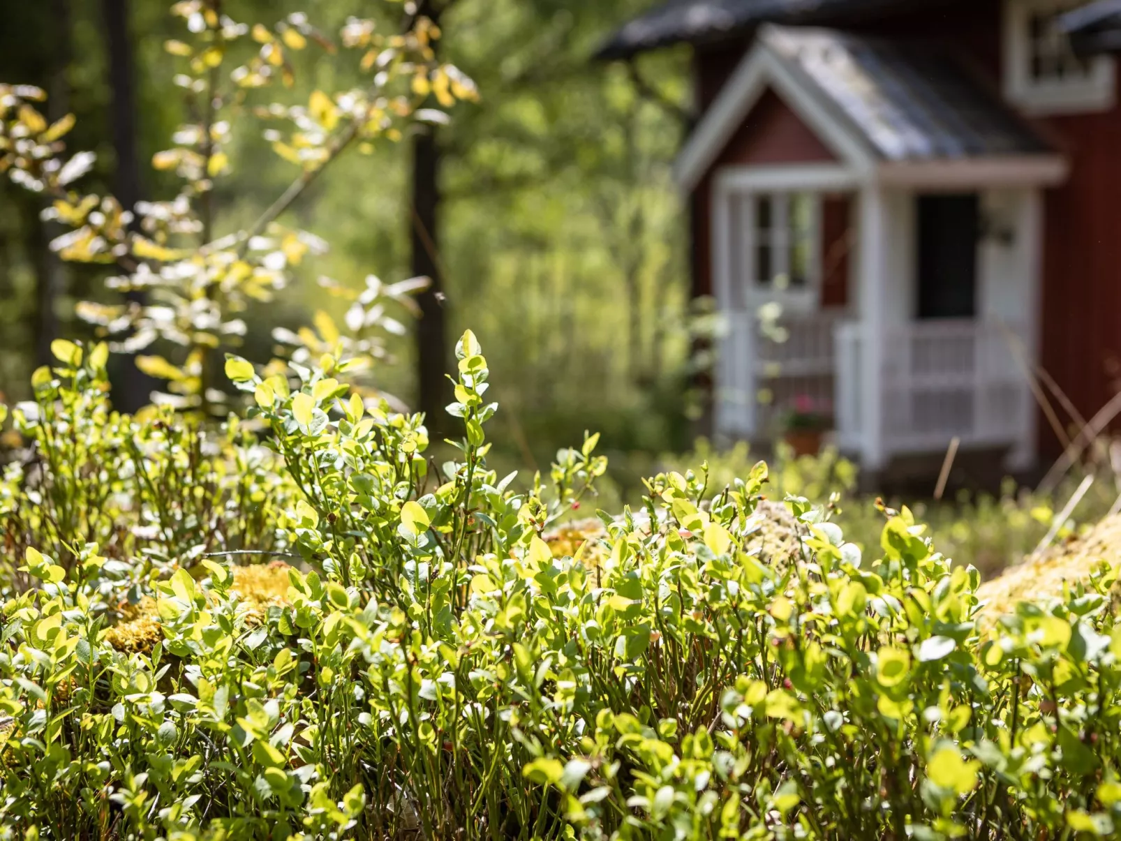
<path id="1" fill-rule="evenodd" d="M 887 163 L 879 166 L 877 175 L 886 185 L 937 191 L 1054 186 L 1062 184 L 1068 172 L 1069 165 L 1058 155 L 1032 155 Z"/>

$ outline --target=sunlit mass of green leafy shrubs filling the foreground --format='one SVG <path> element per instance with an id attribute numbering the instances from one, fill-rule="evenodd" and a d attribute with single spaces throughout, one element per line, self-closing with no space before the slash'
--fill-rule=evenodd
<path id="1" fill-rule="evenodd" d="M 1121 821 L 1105 567 L 989 617 L 976 572 L 906 509 L 861 552 L 797 497 L 796 545 L 749 552 L 777 516 L 762 464 L 708 488 L 655 477 L 641 510 L 602 515 L 587 563 L 556 557 L 544 536 L 604 461 L 593 436 L 526 492 L 492 472 L 470 333 L 464 435 L 438 470 L 423 419 L 355 397 L 336 355 L 266 377 L 231 357 L 254 408 L 219 435 L 109 412 L 104 350 L 56 353 L 15 410 L 31 446 L 0 491 L 7 837 L 1036 839 Z M 258 556 L 271 566 L 237 564 Z M 158 638 L 122 645 L 141 620 Z"/>

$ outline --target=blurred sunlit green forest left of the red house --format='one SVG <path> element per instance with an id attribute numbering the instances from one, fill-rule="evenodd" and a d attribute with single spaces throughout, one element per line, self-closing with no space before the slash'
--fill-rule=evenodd
<path id="1" fill-rule="evenodd" d="M 377 6 L 226 0 L 224 10 L 239 20 L 306 11 L 330 33 Z M 475 81 L 479 102 L 456 105 L 432 133 L 379 144 L 316 181 L 293 221 L 330 234 L 332 251 L 314 272 L 297 267 L 298 283 L 276 302 L 247 313 L 244 355 L 268 358 L 275 329 L 296 329 L 316 309 L 342 318 L 346 304 L 323 294 L 321 275 L 358 288 L 371 275 L 387 283 L 429 275 L 425 317 L 399 314 L 402 333 L 388 348 L 396 364 L 381 368 L 386 390 L 429 413 L 442 406 L 433 353 L 444 355 L 441 338 L 471 327 L 501 370 L 493 396 L 506 428 L 494 440 L 509 442 L 509 452 L 495 456 L 511 465 L 548 464 L 557 447 L 597 429 L 627 486 L 658 453 L 688 449 L 700 409 L 691 376 L 703 364 L 692 335 L 705 320 L 688 301 L 686 225 L 669 173 L 689 119 L 688 56 L 670 50 L 636 65 L 593 58 L 645 6 L 424 0 L 418 11 L 443 30 L 442 61 Z M 172 173 L 150 165 L 185 117 L 165 50 L 177 26 L 165 0 L 44 0 L 3 11 L 0 78 L 45 89 L 50 119 L 75 114 L 71 148 L 98 156 L 85 187 L 113 192 L 126 206 L 177 190 Z M 295 77 L 293 100 L 349 84 L 343 63 L 319 55 L 313 73 Z M 251 164 L 214 197 L 229 230 L 245 227 L 290 177 L 267 137 L 240 142 L 231 157 Z M 109 268 L 52 253 L 61 229 L 40 220 L 41 207 L 40 196 L 0 181 L 7 400 L 27 396 L 53 338 L 90 334 L 75 304 L 111 295 Z M 417 353 L 418 327 L 427 354 Z"/>

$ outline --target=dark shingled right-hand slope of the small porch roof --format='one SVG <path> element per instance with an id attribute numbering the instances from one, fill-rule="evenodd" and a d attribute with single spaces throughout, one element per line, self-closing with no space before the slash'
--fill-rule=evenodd
<path id="1" fill-rule="evenodd" d="M 886 160 L 1053 151 L 997 91 L 935 45 L 777 26 L 761 37 Z"/>

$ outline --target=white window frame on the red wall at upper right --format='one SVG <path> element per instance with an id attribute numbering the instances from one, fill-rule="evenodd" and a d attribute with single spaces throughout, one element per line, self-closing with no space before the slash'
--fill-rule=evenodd
<path id="1" fill-rule="evenodd" d="M 1087 59 L 1084 78 L 1040 82 L 1031 77 L 1031 12 L 1051 10 L 1056 0 L 1004 0 L 1004 96 L 1030 114 L 1108 111 L 1117 101 L 1117 71 L 1111 56 Z M 1082 4 L 1069 2 L 1074 9 Z"/>

